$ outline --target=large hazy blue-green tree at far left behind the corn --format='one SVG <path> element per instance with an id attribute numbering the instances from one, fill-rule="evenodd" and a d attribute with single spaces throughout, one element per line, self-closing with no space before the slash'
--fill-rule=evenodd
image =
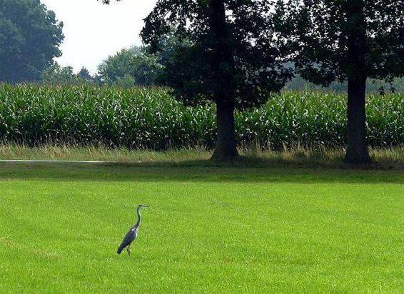
<path id="1" fill-rule="evenodd" d="M 36 81 L 60 56 L 63 23 L 39 0 L 0 0 L 0 81 Z"/>

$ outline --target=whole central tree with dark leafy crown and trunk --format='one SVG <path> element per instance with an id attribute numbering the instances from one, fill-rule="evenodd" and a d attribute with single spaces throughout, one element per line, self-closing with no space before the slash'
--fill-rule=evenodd
<path id="1" fill-rule="evenodd" d="M 162 0 L 145 19 L 141 36 L 151 49 L 171 32 L 184 41 L 164 64 L 165 82 L 176 96 L 216 103 L 213 160 L 238 156 L 235 108 L 261 105 L 291 77 L 272 41 L 270 9 L 258 0 Z"/>

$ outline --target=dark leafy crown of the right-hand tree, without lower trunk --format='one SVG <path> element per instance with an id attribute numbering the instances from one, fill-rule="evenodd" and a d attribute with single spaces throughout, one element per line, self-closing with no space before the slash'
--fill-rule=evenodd
<path id="1" fill-rule="evenodd" d="M 352 16 L 358 3 L 363 11 Z M 277 12 L 280 36 L 297 71 L 309 81 L 328 85 L 358 73 L 348 53 L 350 36 L 358 29 L 365 32 L 363 74 L 388 81 L 404 76 L 403 0 L 278 1 Z"/>

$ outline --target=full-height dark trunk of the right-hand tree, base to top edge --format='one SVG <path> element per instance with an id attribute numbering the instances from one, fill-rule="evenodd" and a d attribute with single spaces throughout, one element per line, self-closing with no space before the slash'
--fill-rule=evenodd
<path id="1" fill-rule="evenodd" d="M 366 36 L 365 2 L 345 2 L 348 35 L 348 146 L 345 163 L 370 162 L 366 146 L 366 79 L 368 42 Z"/>

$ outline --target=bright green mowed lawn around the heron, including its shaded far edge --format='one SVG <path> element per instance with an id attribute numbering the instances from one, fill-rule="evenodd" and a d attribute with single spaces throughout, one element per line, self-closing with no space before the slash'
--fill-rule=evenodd
<path id="1" fill-rule="evenodd" d="M 404 173 L 0 163 L 1 293 L 402 293 Z M 146 203 L 129 257 L 116 249 Z"/>

